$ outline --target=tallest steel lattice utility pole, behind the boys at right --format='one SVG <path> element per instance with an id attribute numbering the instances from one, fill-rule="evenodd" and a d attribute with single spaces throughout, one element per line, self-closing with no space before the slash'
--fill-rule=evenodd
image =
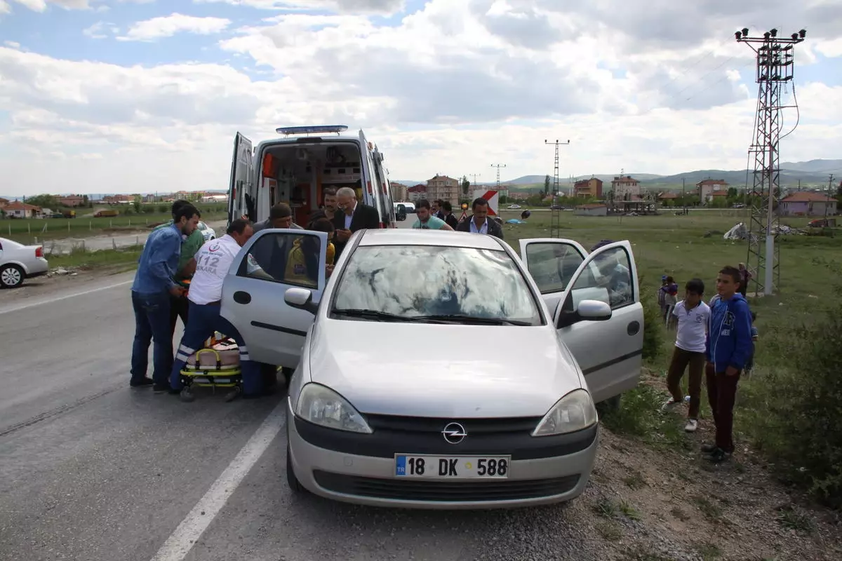
<path id="1" fill-rule="evenodd" d="M 777 29 L 770 29 L 762 37 L 749 37 L 749 29 L 734 34 L 738 43 L 746 43 L 754 50 L 757 61 L 757 129 L 749 148 L 754 154 L 754 198 L 749 220 L 749 257 L 747 267 L 757 286 L 769 296 L 781 283 L 781 248 L 775 244 L 779 218 L 775 199 L 780 195 L 781 109 L 796 106 L 781 105 L 781 90 L 792 82 L 795 71 L 795 45 L 807 36 L 802 29 L 789 38 L 779 38 Z M 754 46 L 758 45 L 758 46 Z M 761 241 L 761 240 L 765 240 Z M 762 274 L 761 274 L 762 273 Z"/>

